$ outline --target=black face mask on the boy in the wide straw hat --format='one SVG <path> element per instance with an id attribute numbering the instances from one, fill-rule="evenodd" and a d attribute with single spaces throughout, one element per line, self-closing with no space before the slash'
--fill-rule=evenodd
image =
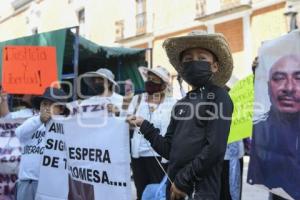
<path id="1" fill-rule="evenodd" d="M 182 63 L 182 78 L 194 87 L 204 86 L 210 82 L 213 72 L 206 61 L 189 61 Z"/>

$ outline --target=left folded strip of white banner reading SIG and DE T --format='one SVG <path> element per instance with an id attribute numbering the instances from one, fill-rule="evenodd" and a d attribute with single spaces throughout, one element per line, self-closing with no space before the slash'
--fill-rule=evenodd
<path id="1" fill-rule="evenodd" d="M 46 127 L 45 149 L 40 168 L 36 200 L 64 200 L 68 197 L 65 136 L 54 121 Z"/>

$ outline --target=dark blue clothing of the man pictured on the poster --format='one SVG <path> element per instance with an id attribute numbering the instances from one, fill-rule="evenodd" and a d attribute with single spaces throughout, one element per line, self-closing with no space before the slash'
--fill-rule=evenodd
<path id="1" fill-rule="evenodd" d="M 282 114 L 274 106 L 255 123 L 248 182 L 282 188 L 300 199 L 300 113 Z"/>

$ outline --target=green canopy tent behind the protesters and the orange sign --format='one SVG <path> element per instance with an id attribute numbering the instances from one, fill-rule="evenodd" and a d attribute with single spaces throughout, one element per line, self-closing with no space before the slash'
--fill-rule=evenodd
<path id="1" fill-rule="evenodd" d="M 74 29 L 78 32 L 78 27 Z M 59 80 L 71 81 L 77 75 L 105 67 L 113 71 L 117 81 L 131 79 L 136 93 L 144 89 L 138 67 L 147 66 L 146 49 L 100 46 L 73 33 L 71 28 L 61 29 L 0 42 L 1 74 L 2 50 L 7 45 L 56 47 Z"/>

